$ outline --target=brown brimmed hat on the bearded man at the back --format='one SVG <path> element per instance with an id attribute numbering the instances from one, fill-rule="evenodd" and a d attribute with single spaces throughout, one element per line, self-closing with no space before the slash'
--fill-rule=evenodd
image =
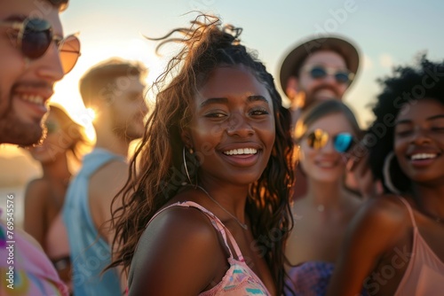
<path id="1" fill-rule="evenodd" d="M 316 51 L 336 51 L 345 58 L 345 64 L 349 71 L 356 74 L 360 64 L 360 54 L 352 43 L 346 41 L 343 37 L 326 36 L 316 39 L 310 39 L 300 43 L 293 50 L 289 51 L 281 63 L 279 81 L 281 89 L 286 93 L 287 82 L 290 76 L 294 76 L 302 66 L 305 58 Z M 353 81 L 352 81 L 353 83 Z"/>

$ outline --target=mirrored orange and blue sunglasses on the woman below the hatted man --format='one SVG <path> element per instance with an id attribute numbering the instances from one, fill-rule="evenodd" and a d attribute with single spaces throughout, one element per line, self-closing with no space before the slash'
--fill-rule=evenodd
<path id="1" fill-rule="evenodd" d="M 313 132 L 306 136 L 307 144 L 315 150 L 325 147 L 329 143 L 329 133 L 322 129 L 314 129 Z M 345 153 L 353 146 L 354 136 L 350 133 L 339 133 L 332 136 L 333 147 L 339 153 Z"/>

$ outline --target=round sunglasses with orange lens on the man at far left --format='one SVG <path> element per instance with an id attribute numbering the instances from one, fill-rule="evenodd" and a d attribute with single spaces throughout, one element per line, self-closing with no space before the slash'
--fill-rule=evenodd
<path id="1" fill-rule="evenodd" d="M 73 69 L 80 56 L 80 41 L 75 35 L 66 38 L 54 36 L 52 25 L 46 19 L 24 19 L 23 21 L 2 21 L 2 26 L 11 26 L 18 31 L 17 47 L 21 53 L 30 59 L 41 58 L 52 42 L 59 49 L 59 57 L 63 73 Z"/>

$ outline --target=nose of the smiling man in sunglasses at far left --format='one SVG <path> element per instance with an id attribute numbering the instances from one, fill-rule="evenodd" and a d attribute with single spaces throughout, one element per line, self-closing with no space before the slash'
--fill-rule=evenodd
<path id="1" fill-rule="evenodd" d="M 48 82 L 58 82 L 65 75 L 61 65 L 60 54 L 57 46 L 52 43 L 44 56 L 31 61 L 37 67 L 37 74 Z"/>

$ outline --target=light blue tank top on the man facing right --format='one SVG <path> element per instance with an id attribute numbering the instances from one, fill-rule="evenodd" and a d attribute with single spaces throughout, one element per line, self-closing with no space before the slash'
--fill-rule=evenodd
<path id="1" fill-rule="evenodd" d="M 100 274 L 111 262 L 111 248 L 99 236 L 92 222 L 88 199 L 91 175 L 112 160 L 124 159 L 104 149 L 94 149 L 84 156 L 83 167 L 67 189 L 63 220 L 69 238 L 75 296 L 122 295 L 120 278 L 115 269 Z"/>

